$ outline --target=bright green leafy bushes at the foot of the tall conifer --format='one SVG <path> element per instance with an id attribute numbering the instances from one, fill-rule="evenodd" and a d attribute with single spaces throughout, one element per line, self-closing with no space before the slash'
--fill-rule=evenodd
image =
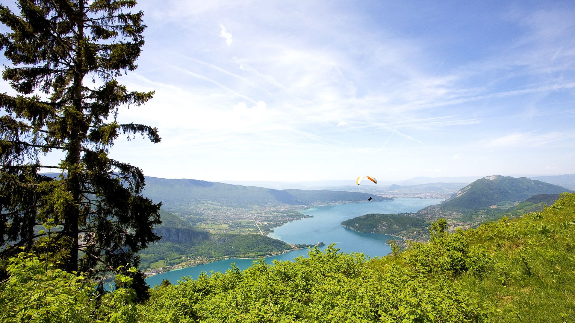
<path id="1" fill-rule="evenodd" d="M 10 258 L 7 270 L 9 278 L 0 284 L 2 322 L 137 321 L 129 276 L 116 275 L 116 290 L 100 294 L 86 275 L 56 269 L 33 254 Z"/>

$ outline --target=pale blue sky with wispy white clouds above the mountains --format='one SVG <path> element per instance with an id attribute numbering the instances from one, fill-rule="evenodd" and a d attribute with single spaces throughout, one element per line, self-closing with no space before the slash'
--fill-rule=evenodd
<path id="1" fill-rule="evenodd" d="M 10 6 L 10 1 L 2 1 Z M 146 176 L 575 173 L 575 2 L 141 0 Z M 0 90 L 7 91 L 3 84 Z"/>

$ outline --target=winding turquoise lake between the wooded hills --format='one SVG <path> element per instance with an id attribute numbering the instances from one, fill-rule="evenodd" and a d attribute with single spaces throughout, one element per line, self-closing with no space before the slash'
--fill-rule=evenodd
<path id="1" fill-rule="evenodd" d="M 396 198 L 393 201 L 351 203 L 340 205 L 326 205 L 312 207 L 311 209 L 299 210 L 299 212 L 312 216 L 288 224 L 279 226 L 268 236 L 283 240 L 290 244 L 316 244 L 319 241 L 325 243 L 327 247 L 331 243 L 336 243 L 336 248 L 340 252 L 362 252 L 366 256 L 385 256 L 391 252 L 387 239 L 393 239 L 386 234 L 359 233 L 354 230 L 344 228 L 341 222 L 350 218 L 363 216 L 370 213 L 397 214 L 405 212 L 416 212 L 428 205 L 439 204 L 443 199 L 438 198 Z M 273 260 L 293 260 L 298 256 L 306 257 L 308 249 L 286 252 L 283 255 L 265 257 L 266 263 Z M 202 271 L 225 272 L 230 268 L 231 263 L 235 263 L 240 270 L 244 270 L 252 265 L 253 259 L 226 259 L 208 264 L 193 267 L 186 267 L 151 276 L 146 279 L 150 286 L 159 284 L 163 279 L 177 283 L 182 276 L 197 278 Z"/>

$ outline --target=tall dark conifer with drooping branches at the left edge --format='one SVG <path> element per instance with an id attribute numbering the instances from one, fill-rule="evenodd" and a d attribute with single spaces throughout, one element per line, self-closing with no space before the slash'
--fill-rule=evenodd
<path id="1" fill-rule="evenodd" d="M 108 152 L 121 134 L 160 141 L 156 128 L 116 120 L 120 107 L 154 94 L 117 82 L 137 68 L 143 13 L 129 12 L 132 0 L 17 4 L 16 13 L 0 5 L 10 29 L 0 34 L 0 51 L 13 63 L 2 78 L 19 93 L 0 94 L 0 256 L 24 247 L 49 253 L 68 272 L 100 279 L 124 266 L 130 274 L 137 252 L 159 239 L 152 227 L 160 204 L 141 195 L 141 170 Z M 43 164 L 51 153 L 64 157 Z M 51 178 L 40 168 L 62 174 Z M 134 278 L 145 297 L 143 274 Z"/>

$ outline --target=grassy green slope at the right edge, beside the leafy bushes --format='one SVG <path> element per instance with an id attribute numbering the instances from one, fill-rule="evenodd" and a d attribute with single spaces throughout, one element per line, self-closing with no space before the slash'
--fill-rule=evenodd
<path id="1" fill-rule="evenodd" d="M 570 195 L 573 205 L 547 207 L 541 217 L 526 214 L 477 229 L 488 234 L 478 234 L 471 243 L 488 248 L 489 270 L 461 281 L 493 309 L 493 321 L 575 322 L 575 224 L 559 225 L 575 221 L 574 202 Z M 549 233 L 540 230 L 543 225 L 551 228 Z M 485 239 L 489 234 L 492 239 Z"/>

